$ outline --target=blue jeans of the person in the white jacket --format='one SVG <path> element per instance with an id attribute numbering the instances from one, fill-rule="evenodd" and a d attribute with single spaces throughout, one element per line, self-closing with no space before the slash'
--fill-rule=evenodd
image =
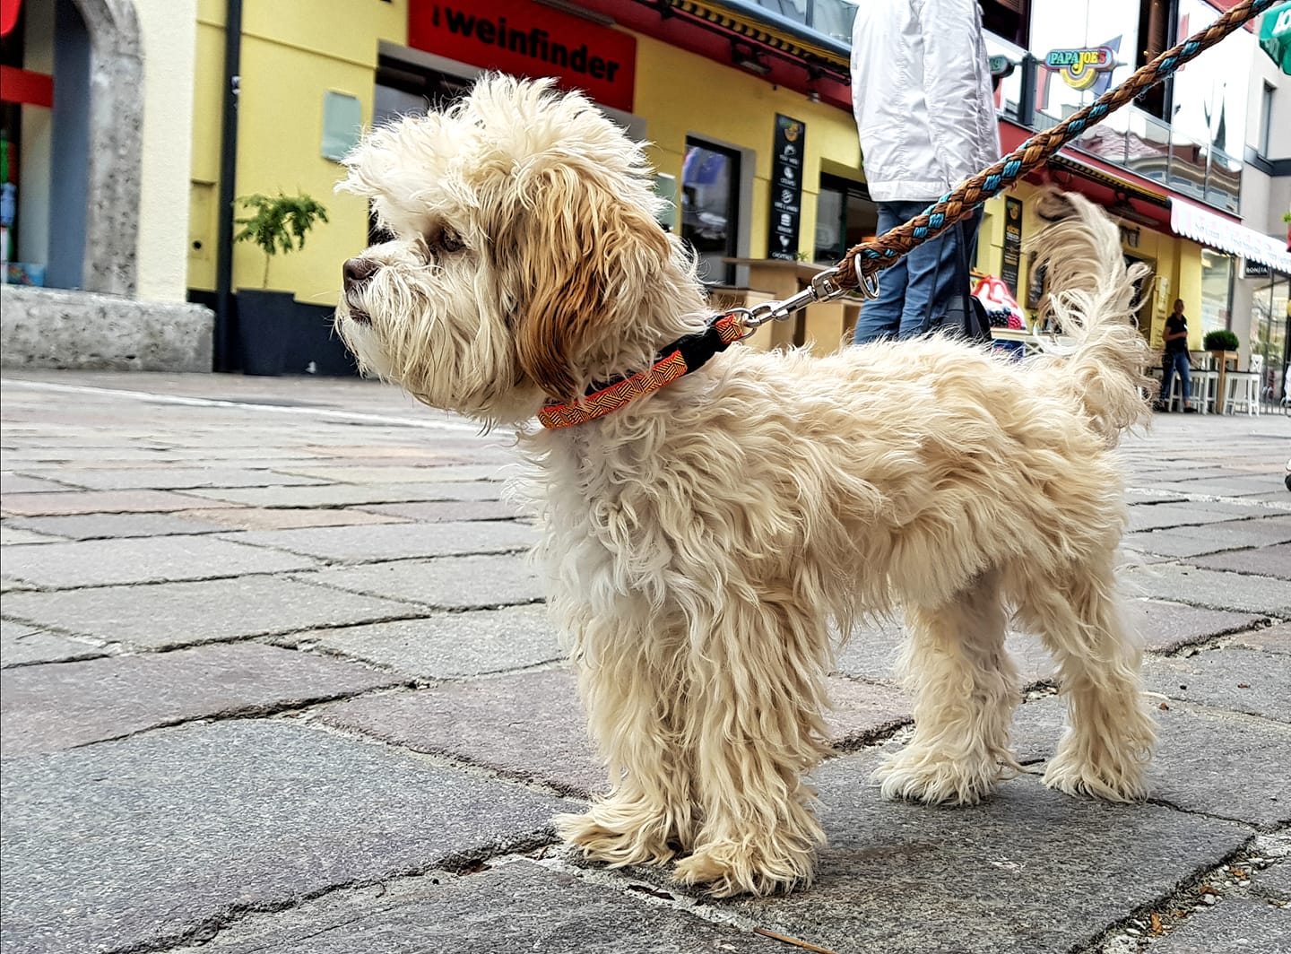
<path id="1" fill-rule="evenodd" d="M 932 203 L 878 203 L 878 234 L 910 221 Z M 913 338 L 948 311 L 963 309 L 976 254 L 981 209 L 915 247 L 879 272 L 879 297 L 861 306 L 852 340 Z"/>

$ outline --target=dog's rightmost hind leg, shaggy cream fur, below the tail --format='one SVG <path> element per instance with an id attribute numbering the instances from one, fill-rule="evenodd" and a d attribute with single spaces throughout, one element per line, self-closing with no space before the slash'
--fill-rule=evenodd
<path id="1" fill-rule="evenodd" d="M 1025 581 L 1019 616 L 1053 655 L 1068 700 L 1070 724 L 1044 784 L 1113 802 L 1144 798 L 1157 731 L 1144 709 L 1143 649 L 1121 617 L 1112 558 Z"/>

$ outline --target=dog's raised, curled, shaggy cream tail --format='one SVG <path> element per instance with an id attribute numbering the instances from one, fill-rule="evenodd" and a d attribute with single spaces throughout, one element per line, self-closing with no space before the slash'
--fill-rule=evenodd
<path id="1" fill-rule="evenodd" d="M 1150 270 L 1137 262 L 1126 267 L 1119 231 L 1083 196 L 1050 188 L 1035 210 L 1048 222 L 1030 245 L 1032 267 L 1047 270 L 1050 294 L 1042 314 L 1068 340 L 1038 360 L 1070 383 L 1110 447 L 1149 414 L 1150 350 L 1139 333 L 1135 283 Z"/>

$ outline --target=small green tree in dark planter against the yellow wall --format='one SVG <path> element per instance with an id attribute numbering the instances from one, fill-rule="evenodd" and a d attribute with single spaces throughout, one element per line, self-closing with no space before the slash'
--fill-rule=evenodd
<path id="1" fill-rule="evenodd" d="M 318 222 L 327 222 L 327 209 L 309 195 L 245 195 L 238 204 L 250 214 L 235 218 L 241 231 L 234 241 L 253 241 L 265 253 L 265 278 L 258 289 L 238 289 L 238 340 L 243 373 L 281 374 L 292 338 L 296 296 L 269 288 L 269 266 L 276 254 L 305 248 L 305 235 Z"/>

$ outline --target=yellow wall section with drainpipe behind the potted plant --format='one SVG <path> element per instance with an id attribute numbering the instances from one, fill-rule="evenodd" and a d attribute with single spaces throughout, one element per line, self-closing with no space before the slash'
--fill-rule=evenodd
<path id="1" fill-rule="evenodd" d="M 223 15 L 223 3 L 199 0 L 190 232 L 203 248 L 190 243 L 188 283 L 207 290 L 216 287 Z M 407 0 L 372 4 L 363 17 L 350 0 L 248 3 L 243 17 L 235 191 L 306 192 L 327 207 L 329 222 L 315 226 L 303 250 L 275 256 L 269 274 L 271 288 L 325 305 L 340 289 L 341 262 L 367 244 L 368 214 L 358 196 L 333 194 L 341 167 L 320 155 L 323 94 L 356 97 L 371 123 L 378 43 L 407 40 Z M 259 288 L 263 270 L 256 245 L 234 247 L 234 288 Z"/>

